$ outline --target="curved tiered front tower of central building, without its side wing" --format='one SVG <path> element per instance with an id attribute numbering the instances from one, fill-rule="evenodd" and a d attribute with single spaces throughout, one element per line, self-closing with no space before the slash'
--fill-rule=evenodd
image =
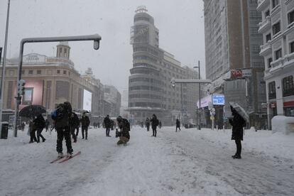
<path id="1" fill-rule="evenodd" d="M 129 111 L 136 121 L 164 112 L 164 81 L 158 69 L 158 29 L 153 17 L 146 12 L 136 13 L 131 27 L 133 68 L 129 77 Z"/>

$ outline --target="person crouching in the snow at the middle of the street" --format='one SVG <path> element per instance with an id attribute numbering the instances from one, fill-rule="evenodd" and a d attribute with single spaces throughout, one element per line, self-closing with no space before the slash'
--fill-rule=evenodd
<path id="1" fill-rule="evenodd" d="M 118 116 L 116 118 L 117 126 L 121 131 L 118 131 L 116 129 L 116 138 L 119 137 L 119 141 L 117 142 L 117 145 L 124 144 L 130 140 L 130 124 L 127 119 L 123 119 L 121 116 Z"/>

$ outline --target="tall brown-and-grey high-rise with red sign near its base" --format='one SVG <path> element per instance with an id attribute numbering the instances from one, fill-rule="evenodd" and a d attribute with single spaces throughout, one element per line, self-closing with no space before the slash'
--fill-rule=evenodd
<path id="1" fill-rule="evenodd" d="M 222 123 L 231 115 L 229 102 L 239 103 L 250 114 L 250 125 L 266 125 L 266 87 L 263 58 L 258 53 L 262 36 L 258 34 L 261 12 L 257 1 L 207 0 L 205 12 L 205 58 L 209 93 L 224 94 L 226 104 Z"/>

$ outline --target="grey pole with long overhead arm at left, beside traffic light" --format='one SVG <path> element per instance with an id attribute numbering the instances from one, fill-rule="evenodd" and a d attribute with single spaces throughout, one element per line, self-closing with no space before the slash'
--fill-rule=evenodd
<path id="1" fill-rule="evenodd" d="M 81 40 L 94 40 L 93 48 L 94 50 L 99 49 L 101 36 L 98 34 L 88 35 L 88 36 L 67 36 L 67 37 L 48 37 L 48 38 L 24 38 L 21 40 L 21 45 L 19 49 L 19 62 L 18 62 L 18 77 L 17 81 L 21 80 L 21 69 L 23 66 L 23 46 L 25 43 L 44 43 L 44 42 L 57 42 L 57 41 L 81 41 Z M 14 118 L 14 136 L 17 136 L 17 119 L 18 119 L 18 109 L 21 102 L 21 94 L 17 93 L 16 98 L 16 111 Z"/>

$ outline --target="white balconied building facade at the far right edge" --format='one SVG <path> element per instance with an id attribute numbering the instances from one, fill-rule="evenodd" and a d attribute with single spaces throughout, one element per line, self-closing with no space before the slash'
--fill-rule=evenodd
<path id="1" fill-rule="evenodd" d="M 263 36 L 268 124 L 273 116 L 294 116 L 294 1 L 258 0 Z"/>

